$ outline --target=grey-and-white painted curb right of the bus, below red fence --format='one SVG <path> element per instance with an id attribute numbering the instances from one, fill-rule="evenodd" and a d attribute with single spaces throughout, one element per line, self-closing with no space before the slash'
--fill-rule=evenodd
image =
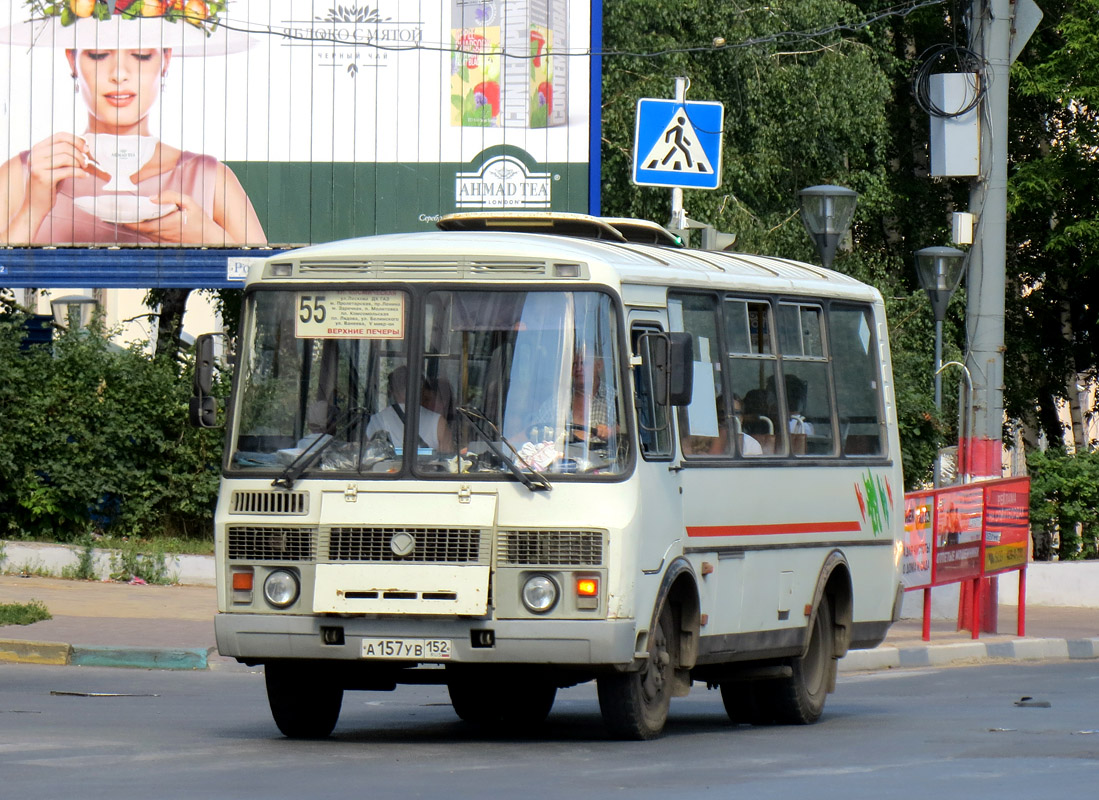
<path id="1" fill-rule="evenodd" d="M 851 651 L 840 659 L 841 673 L 906 667 L 944 667 L 974 662 L 1030 662 L 1099 658 L 1099 637 L 1019 638 L 1012 642 L 963 642 L 922 647 L 875 647 Z"/>

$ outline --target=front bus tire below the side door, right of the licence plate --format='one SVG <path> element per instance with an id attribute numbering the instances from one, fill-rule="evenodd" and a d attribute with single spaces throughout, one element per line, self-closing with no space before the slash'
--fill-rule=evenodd
<path id="1" fill-rule="evenodd" d="M 665 604 L 648 637 L 648 658 L 637 673 L 600 677 L 599 710 L 615 738 L 648 740 L 664 732 L 671 701 L 677 640 L 671 609 Z"/>

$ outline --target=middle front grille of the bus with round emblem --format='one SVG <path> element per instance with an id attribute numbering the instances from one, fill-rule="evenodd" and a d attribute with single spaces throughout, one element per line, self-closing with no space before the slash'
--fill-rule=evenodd
<path id="1" fill-rule="evenodd" d="M 328 554 L 332 562 L 415 562 L 488 564 L 488 542 L 477 529 L 333 527 Z"/>

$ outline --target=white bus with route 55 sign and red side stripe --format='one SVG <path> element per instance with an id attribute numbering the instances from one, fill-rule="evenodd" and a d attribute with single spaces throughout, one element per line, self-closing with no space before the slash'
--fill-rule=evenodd
<path id="1" fill-rule="evenodd" d="M 878 292 L 637 221 L 439 224 L 253 268 L 219 651 L 264 665 L 291 737 L 398 684 L 515 727 L 595 680 L 624 738 L 696 682 L 734 721 L 815 721 L 900 604 Z"/>

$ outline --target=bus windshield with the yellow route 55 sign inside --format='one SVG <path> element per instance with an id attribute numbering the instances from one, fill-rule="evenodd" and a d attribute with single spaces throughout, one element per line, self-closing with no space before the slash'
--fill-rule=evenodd
<path id="1" fill-rule="evenodd" d="M 629 465 L 602 292 L 263 290 L 245 319 L 232 470 L 556 479 Z"/>

